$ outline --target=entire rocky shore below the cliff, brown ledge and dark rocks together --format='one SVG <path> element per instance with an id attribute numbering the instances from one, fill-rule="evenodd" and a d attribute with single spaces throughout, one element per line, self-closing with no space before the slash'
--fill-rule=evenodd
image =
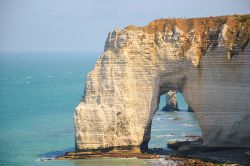
<path id="1" fill-rule="evenodd" d="M 139 153 L 129 150 L 110 152 L 67 152 L 56 160 L 96 159 L 96 158 L 138 158 L 154 159 L 153 165 L 176 166 L 248 166 L 250 148 L 208 148 L 198 141 L 183 141 L 168 144 L 170 149 L 148 149 Z"/>

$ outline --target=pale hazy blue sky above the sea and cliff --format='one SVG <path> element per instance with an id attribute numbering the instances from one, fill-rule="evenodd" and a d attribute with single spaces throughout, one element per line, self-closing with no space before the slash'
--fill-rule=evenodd
<path id="1" fill-rule="evenodd" d="M 0 51 L 103 52 L 115 28 L 229 14 L 250 14 L 250 0 L 0 0 Z"/>

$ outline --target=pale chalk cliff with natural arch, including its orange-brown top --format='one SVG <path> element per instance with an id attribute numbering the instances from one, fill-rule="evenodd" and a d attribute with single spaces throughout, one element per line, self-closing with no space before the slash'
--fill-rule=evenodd
<path id="1" fill-rule="evenodd" d="M 249 29 L 244 15 L 109 33 L 76 108 L 76 148 L 147 148 L 160 95 L 170 89 L 196 113 L 204 145 L 250 147 Z"/>

